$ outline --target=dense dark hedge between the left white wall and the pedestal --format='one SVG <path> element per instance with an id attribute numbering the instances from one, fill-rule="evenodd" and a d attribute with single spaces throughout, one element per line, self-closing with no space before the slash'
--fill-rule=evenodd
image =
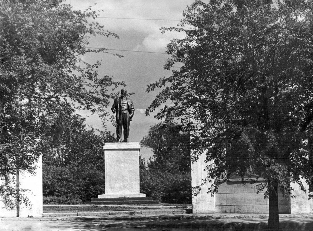
<path id="1" fill-rule="evenodd" d="M 97 198 L 105 190 L 103 168 L 91 163 L 83 166 L 43 165 L 43 195 L 46 203 L 80 203 Z"/>

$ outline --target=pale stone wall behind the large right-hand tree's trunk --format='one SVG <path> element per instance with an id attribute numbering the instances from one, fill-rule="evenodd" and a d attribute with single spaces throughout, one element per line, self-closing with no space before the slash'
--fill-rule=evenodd
<path id="1" fill-rule="evenodd" d="M 192 187 L 202 183 L 207 174 L 205 167 L 206 153 L 204 152 L 197 162 L 191 164 L 191 184 Z M 283 197 L 280 190 L 278 192 L 279 213 L 313 213 L 313 199 L 308 200 L 308 185 L 302 180 L 307 192 L 303 192 L 298 184 L 291 184 L 295 190 L 295 198 Z M 242 184 L 241 179 L 232 179 L 218 187 L 218 193 L 211 196 L 207 193 L 209 185 L 202 187 L 197 196 L 192 196 L 193 213 L 268 213 L 269 202 L 264 199 L 263 192 L 256 194 L 255 184 Z M 264 189 L 266 190 L 266 189 Z"/>

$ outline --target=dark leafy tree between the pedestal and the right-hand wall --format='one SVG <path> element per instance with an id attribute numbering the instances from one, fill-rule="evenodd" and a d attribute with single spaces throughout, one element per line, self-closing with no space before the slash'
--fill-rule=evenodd
<path id="1" fill-rule="evenodd" d="M 191 203 L 189 134 L 177 123 L 158 123 L 140 144 L 153 152 L 147 166 L 141 161 L 141 192 L 165 203 Z"/>

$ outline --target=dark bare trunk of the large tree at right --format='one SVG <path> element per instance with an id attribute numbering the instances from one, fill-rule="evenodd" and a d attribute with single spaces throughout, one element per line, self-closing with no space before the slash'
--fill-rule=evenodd
<path id="1" fill-rule="evenodd" d="M 269 220 L 268 230 L 279 230 L 279 215 L 278 215 L 278 182 L 271 181 L 272 190 L 269 193 Z M 270 185 L 269 185 L 270 187 Z"/>

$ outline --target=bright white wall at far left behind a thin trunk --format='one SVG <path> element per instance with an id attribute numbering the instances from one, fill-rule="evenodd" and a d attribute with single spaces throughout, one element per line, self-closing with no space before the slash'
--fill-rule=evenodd
<path id="1" fill-rule="evenodd" d="M 38 166 L 35 174 L 32 175 L 26 171 L 20 172 L 20 188 L 28 189 L 25 194 L 32 203 L 32 207 L 28 208 L 25 205 L 20 206 L 20 217 L 42 217 L 43 213 L 43 196 L 42 196 L 42 157 L 39 157 Z M 0 201 L 0 217 L 16 217 L 15 210 L 7 210 Z"/>

